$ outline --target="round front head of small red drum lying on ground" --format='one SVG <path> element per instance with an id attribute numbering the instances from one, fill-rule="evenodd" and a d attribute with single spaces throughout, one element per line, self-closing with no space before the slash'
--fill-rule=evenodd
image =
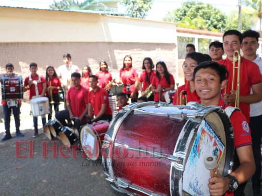
<path id="1" fill-rule="evenodd" d="M 96 137 L 91 125 L 84 125 L 80 130 L 80 143 L 85 155 L 92 161 L 96 161 L 100 154 L 100 139 Z"/>

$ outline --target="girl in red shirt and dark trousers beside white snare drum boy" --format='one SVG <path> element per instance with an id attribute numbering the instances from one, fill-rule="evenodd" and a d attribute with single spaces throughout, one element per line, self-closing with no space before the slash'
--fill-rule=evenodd
<path id="1" fill-rule="evenodd" d="M 60 97 L 58 91 L 61 90 L 61 81 L 58 78 L 56 70 L 53 66 L 48 66 L 46 69 L 46 81 L 47 81 L 47 90 L 46 90 L 46 97 L 49 98 L 50 104 L 50 113 L 48 114 L 48 120 L 52 119 L 52 105 L 54 105 L 55 111 L 58 110 Z M 53 97 L 53 101 L 51 101 L 51 93 Z"/>

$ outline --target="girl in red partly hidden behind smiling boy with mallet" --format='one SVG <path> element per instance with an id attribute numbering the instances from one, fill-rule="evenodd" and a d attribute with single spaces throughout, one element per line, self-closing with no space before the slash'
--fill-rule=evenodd
<path id="1" fill-rule="evenodd" d="M 204 54 L 199 53 L 199 52 L 190 52 L 186 55 L 185 61 L 183 64 L 185 84 L 180 86 L 178 88 L 178 91 L 175 91 L 175 95 L 173 99 L 174 105 L 186 105 L 190 101 L 200 100 L 199 96 L 197 95 L 195 91 L 195 85 L 193 81 L 193 72 L 194 72 L 195 67 L 197 67 L 201 62 L 204 62 L 205 59 L 206 58 Z M 182 92 L 182 96 L 181 96 L 182 100 L 180 100 L 181 92 Z M 178 100 L 178 103 L 176 102 L 176 100 Z"/>

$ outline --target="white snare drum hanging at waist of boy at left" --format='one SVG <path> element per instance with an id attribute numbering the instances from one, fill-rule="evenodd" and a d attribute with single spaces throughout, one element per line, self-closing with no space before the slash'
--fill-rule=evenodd
<path id="1" fill-rule="evenodd" d="M 49 113 L 49 99 L 46 97 L 32 98 L 30 100 L 30 105 L 34 117 Z"/>

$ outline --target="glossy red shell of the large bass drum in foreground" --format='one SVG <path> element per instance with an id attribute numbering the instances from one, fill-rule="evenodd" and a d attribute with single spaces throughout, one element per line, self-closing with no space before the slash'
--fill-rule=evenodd
<path id="1" fill-rule="evenodd" d="M 146 104 L 150 105 L 149 103 Z M 147 195 L 143 194 L 147 192 L 149 195 L 152 193 L 159 195 L 183 195 L 181 194 L 182 186 L 180 185 L 183 181 L 183 172 L 173 169 L 174 162 L 166 158 L 156 158 L 152 156 L 153 153 L 149 152 L 160 151 L 161 155 L 171 157 L 176 149 L 185 148 L 184 151 L 188 156 L 199 121 L 192 121 L 191 118 L 175 120 L 175 118 L 167 117 L 171 115 L 172 110 L 176 113 L 181 111 L 189 114 L 189 116 L 190 114 L 192 116 L 195 115 L 197 110 L 183 109 L 180 106 L 174 106 L 174 108 L 154 108 L 151 106 L 143 108 L 142 106 L 137 106 L 138 115 L 134 115 L 136 113 L 136 106 L 134 105 L 131 104 L 126 107 L 130 107 L 132 110 L 125 109 L 125 111 L 121 111 L 116 116 L 105 136 L 104 150 L 107 151 L 107 148 L 113 146 L 112 151 L 114 153 L 112 157 L 104 157 L 102 153 L 104 172 L 108 176 L 108 181 L 112 182 L 114 189 L 128 194 Z M 141 114 L 139 109 L 141 109 Z M 157 111 L 158 109 L 159 111 Z M 146 110 L 146 114 L 144 114 L 144 110 Z M 156 114 L 153 114 L 154 110 Z M 211 112 L 211 110 L 213 109 L 210 109 L 208 112 Z M 150 113 L 152 113 L 152 116 L 148 115 Z M 164 115 L 164 113 L 167 115 Z M 227 121 L 229 123 L 228 118 Z M 181 138 L 181 135 L 188 138 Z M 232 139 L 230 141 L 233 143 Z M 110 143 L 113 145 L 110 146 Z M 156 148 L 153 149 L 153 147 Z M 157 147 L 160 147 L 160 149 L 157 150 Z M 133 150 L 134 148 L 144 149 L 146 153 Z M 118 155 L 116 152 L 118 152 Z M 233 158 L 232 145 L 228 156 L 231 161 Z M 230 161 L 227 162 L 230 163 Z M 229 166 L 225 166 L 225 170 L 220 174 L 224 175 L 224 172 L 227 173 L 228 171 Z M 126 186 L 124 189 L 123 183 L 117 184 L 119 179 L 124 180 L 128 184 L 124 184 Z M 132 188 L 129 188 L 131 186 Z M 134 187 L 137 187 L 137 189 Z M 139 189 L 143 191 L 137 191 Z M 174 189 L 176 192 L 174 192 Z"/>

